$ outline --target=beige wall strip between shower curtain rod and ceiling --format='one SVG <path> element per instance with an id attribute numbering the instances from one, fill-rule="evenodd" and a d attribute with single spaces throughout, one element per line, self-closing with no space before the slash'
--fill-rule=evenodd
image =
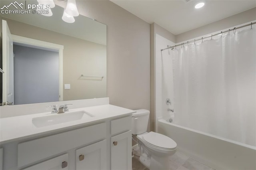
<path id="1" fill-rule="evenodd" d="M 230 27 L 232 28 L 234 26 L 244 24 L 253 20 L 256 20 L 256 8 L 252 8 L 250 10 L 241 12 L 228 18 L 224 18 L 223 20 L 212 22 L 211 24 L 179 34 L 176 36 L 176 43 L 190 40 L 198 36 L 203 36 Z"/>

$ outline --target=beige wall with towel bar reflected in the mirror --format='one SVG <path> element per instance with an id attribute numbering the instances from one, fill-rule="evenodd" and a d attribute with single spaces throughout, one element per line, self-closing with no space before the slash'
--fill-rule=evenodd
<path id="1" fill-rule="evenodd" d="M 88 42 L 7 18 L 3 19 L 7 21 L 10 32 L 14 35 L 64 45 L 63 83 L 71 86 L 71 89 L 63 90 L 64 100 L 107 96 L 106 45 Z M 84 78 L 81 74 L 104 75 L 104 78 L 102 80 Z"/>

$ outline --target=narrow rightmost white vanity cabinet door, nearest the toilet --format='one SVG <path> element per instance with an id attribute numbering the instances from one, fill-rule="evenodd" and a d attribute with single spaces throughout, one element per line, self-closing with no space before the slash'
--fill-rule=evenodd
<path id="1" fill-rule="evenodd" d="M 111 170 L 132 169 L 132 132 L 111 137 Z"/>

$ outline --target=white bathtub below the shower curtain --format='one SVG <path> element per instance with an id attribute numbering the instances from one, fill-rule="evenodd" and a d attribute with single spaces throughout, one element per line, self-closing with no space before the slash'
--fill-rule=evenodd
<path id="1" fill-rule="evenodd" d="M 216 170 L 256 170 L 256 147 L 158 119 L 157 132 L 169 136 L 187 156 Z"/>

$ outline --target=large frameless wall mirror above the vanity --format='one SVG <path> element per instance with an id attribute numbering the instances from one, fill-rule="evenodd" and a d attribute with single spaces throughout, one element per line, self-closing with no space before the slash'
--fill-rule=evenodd
<path id="1" fill-rule="evenodd" d="M 0 7 L 15 10 L 11 2 L 1 0 Z M 36 0 L 14 2 L 24 7 L 38 4 Z M 67 23 L 62 20 L 64 8 L 55 5 L 51 11 L 52 16 L 32 11 L 1 12 L 1 68 L 5 73 L 0 73 L 0 103 L 20 105 L 107 96 L 106 25 L 82 15 Z M 6 38 L 13 42 L 4 42 Z M 5 49 L 4 43 L 9 43 L 12 51 Z M 6 53 L 13 56 L 4 59 Z"/>

